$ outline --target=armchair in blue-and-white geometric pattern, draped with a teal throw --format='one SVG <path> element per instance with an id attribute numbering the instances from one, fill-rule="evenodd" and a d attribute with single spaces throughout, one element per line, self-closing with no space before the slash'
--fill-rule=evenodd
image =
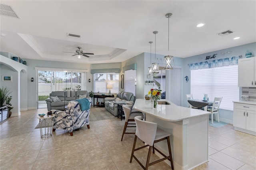
<path id="1" fill-rule="evenodd" d="M 90 98 L 88 98 L 88 100 L 91 105 L 92 100 Z M 77 128 L 83 127 L 84 125 L 87 125 L 87 128 L 90 128 L 90 109 L 82 111 L 78 101 L 76 100 L 68 102 L 66 111 L 52 110 L 52 113 L 55 114 L 55 117 L 53 118 L 54 125 L 52 131 L 55 131 L 56 128 L 61 128 L 68 130 L 68 132 L 70 132 L 70 136 L 73 136 L 73 130 Z"/>

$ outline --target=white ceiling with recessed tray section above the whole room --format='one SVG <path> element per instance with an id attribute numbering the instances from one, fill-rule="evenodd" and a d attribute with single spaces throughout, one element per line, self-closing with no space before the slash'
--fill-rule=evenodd
<path id="1" fill-rule="evenodd" d="M 0 51 L 25 59 L 122 62 L 143 52 L 189 57 L 256 42 L 255 0 L 1 0 L 20 19 L 0 16 Z M 168 18 L 170 52 L 168 53 Z M 205 26 L 197 28 L 199 23 Z M 232 30 L 227 36 L 216 34 Z M 155 35 L 153 31 L 158 31 Z M 67 37 L 67 33 L 81 38 Z M 240 37 L 238 40 L 233 40 Z M 89 58 L 71 57 L 77 47 Z M 244 51 L 246 52 L 246 51 Z"/>

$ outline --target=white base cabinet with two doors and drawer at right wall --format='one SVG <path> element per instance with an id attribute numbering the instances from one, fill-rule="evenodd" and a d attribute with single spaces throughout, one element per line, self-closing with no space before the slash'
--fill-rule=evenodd
<path id="1" fill-rule="evenodd" d="M 235 130 L 256 135 L 256 105 L 234 103 Z"/>

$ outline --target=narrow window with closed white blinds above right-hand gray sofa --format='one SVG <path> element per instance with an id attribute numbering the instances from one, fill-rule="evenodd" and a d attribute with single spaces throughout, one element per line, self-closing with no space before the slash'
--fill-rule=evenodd
<path id="1" fill-rule="evenodd" d="M 136 70 L 124 71 L 124 91 L 131 92 L 136 96 Z"/>

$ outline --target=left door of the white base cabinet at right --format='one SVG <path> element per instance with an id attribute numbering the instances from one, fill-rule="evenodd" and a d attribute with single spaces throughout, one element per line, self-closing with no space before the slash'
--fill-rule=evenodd
<path id="1" fill-rule="evenodd" d="M 234 109 L 233 126 L 239 128 L 246 128 L 246 110 Z"/>

